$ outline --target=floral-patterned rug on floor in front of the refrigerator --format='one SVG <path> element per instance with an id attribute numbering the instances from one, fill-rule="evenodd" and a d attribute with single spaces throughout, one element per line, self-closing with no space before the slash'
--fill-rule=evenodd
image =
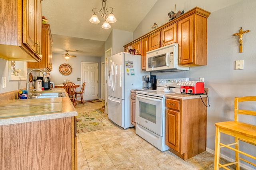
<path id="1" fill-rule="evenodd" d="M 114 127 L 108 120 L 108 115 L 104 113 L 104 108 L 95 109 L 93 111 L 78 112 L 76 133 L 85 133 L 100 129 Z"/>

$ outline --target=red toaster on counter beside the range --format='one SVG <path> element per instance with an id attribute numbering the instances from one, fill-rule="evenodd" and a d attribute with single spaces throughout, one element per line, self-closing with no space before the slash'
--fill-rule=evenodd
<path id="1" fill-rule="evenodd" d="M 184 81 L 184 82 L 179 82 L 177 85 L 180 86 L 181 93 L 188 93 L 188 94 L 204 93 L 204 82 Z"/>

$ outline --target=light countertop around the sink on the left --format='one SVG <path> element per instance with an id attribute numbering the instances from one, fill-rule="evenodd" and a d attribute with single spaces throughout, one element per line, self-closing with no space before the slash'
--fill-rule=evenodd
<path id="1" fill-rule="evenodd" d="M 65 92 L 63 88 L 54 88 L 52 91 Z M 14 99 L 0 104 L 0 125 L 76 115 L 76 109 L 67 94 L 60 98 Z"/>

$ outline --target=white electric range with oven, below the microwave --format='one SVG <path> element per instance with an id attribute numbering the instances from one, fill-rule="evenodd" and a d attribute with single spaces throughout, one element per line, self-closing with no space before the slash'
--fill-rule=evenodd
<path id="1" fill-rule="evenodd" d="M 159 78 L 156 90 L 136 92 L 136 134 L 157 149 L 168 150 L 165 145 L 165 95 L 180 93 L 179 82 L 189 78 Z M 169 92 L 164 92 L 164 89 Z"/>

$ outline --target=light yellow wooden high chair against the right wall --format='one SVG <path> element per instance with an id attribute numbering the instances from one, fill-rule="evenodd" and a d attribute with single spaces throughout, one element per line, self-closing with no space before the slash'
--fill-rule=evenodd
<path id="1" fill-rule="evenodd" d="M 243 152 L 240 150 L 239 147 L 239 141 L 243 141 L 246 143 L 249 143 L 251 145 L 256 145 L 256 125 L 243 123 L 241 121 L 238 121 L 238 115 L 240 115 L 240 118 L 242 116 L 256 116 L 256 111 L 252 110 L 243 110 L 238 108 L 238 104 L 240 102 L 244 102 L 244 104 L 254 104 L 256 102 L 256 96 L 245 96 L 245 97 L 235 97 L 234 100 L 234 121 L 225 121 L 225 122 L 218 122 L 215 123 L 216 126 L 216 136 L 215 136 L 215 155 L 214 155 L 214 170 L 218 170 L 219 168 L 228 169 L 226 166 L 236 164 L 236 170 L 240 170 L 240 160 L 247 162 L 248 164 L 252 164 L 253 166 L 256 166 L 253 162 L 250 162 L 252 159 L 256 160 L 255 155 L 252 156 L 251 154 L 248 154 L 246 152 Z M 240 104 L 241 106 L 241 104 Z M 254 107 L 253 106 L 253 107 Z M 247 118 L 247 117 L 246 117 Z M 252 119 L 255 119 L 252 118 Z M 234 143 L 230 144 L 224 144 L 220 141 L 220 135 L 221 133 L 230 135 L 234 137 Z M 233 146 L 233 147 L 231 147 Z M 226 147 L 228 149 L 231 149 L 235 151 L 235 161 L 227 164 L 220 164 L 220 148 Z M 254 152 L 255 153 L 255 152 Z M 241 158 L 240 154 L 243 154 L 247 156 L 248 158 L 251 158 L 251 160 L 246 160 L 246 158 Z"/>

